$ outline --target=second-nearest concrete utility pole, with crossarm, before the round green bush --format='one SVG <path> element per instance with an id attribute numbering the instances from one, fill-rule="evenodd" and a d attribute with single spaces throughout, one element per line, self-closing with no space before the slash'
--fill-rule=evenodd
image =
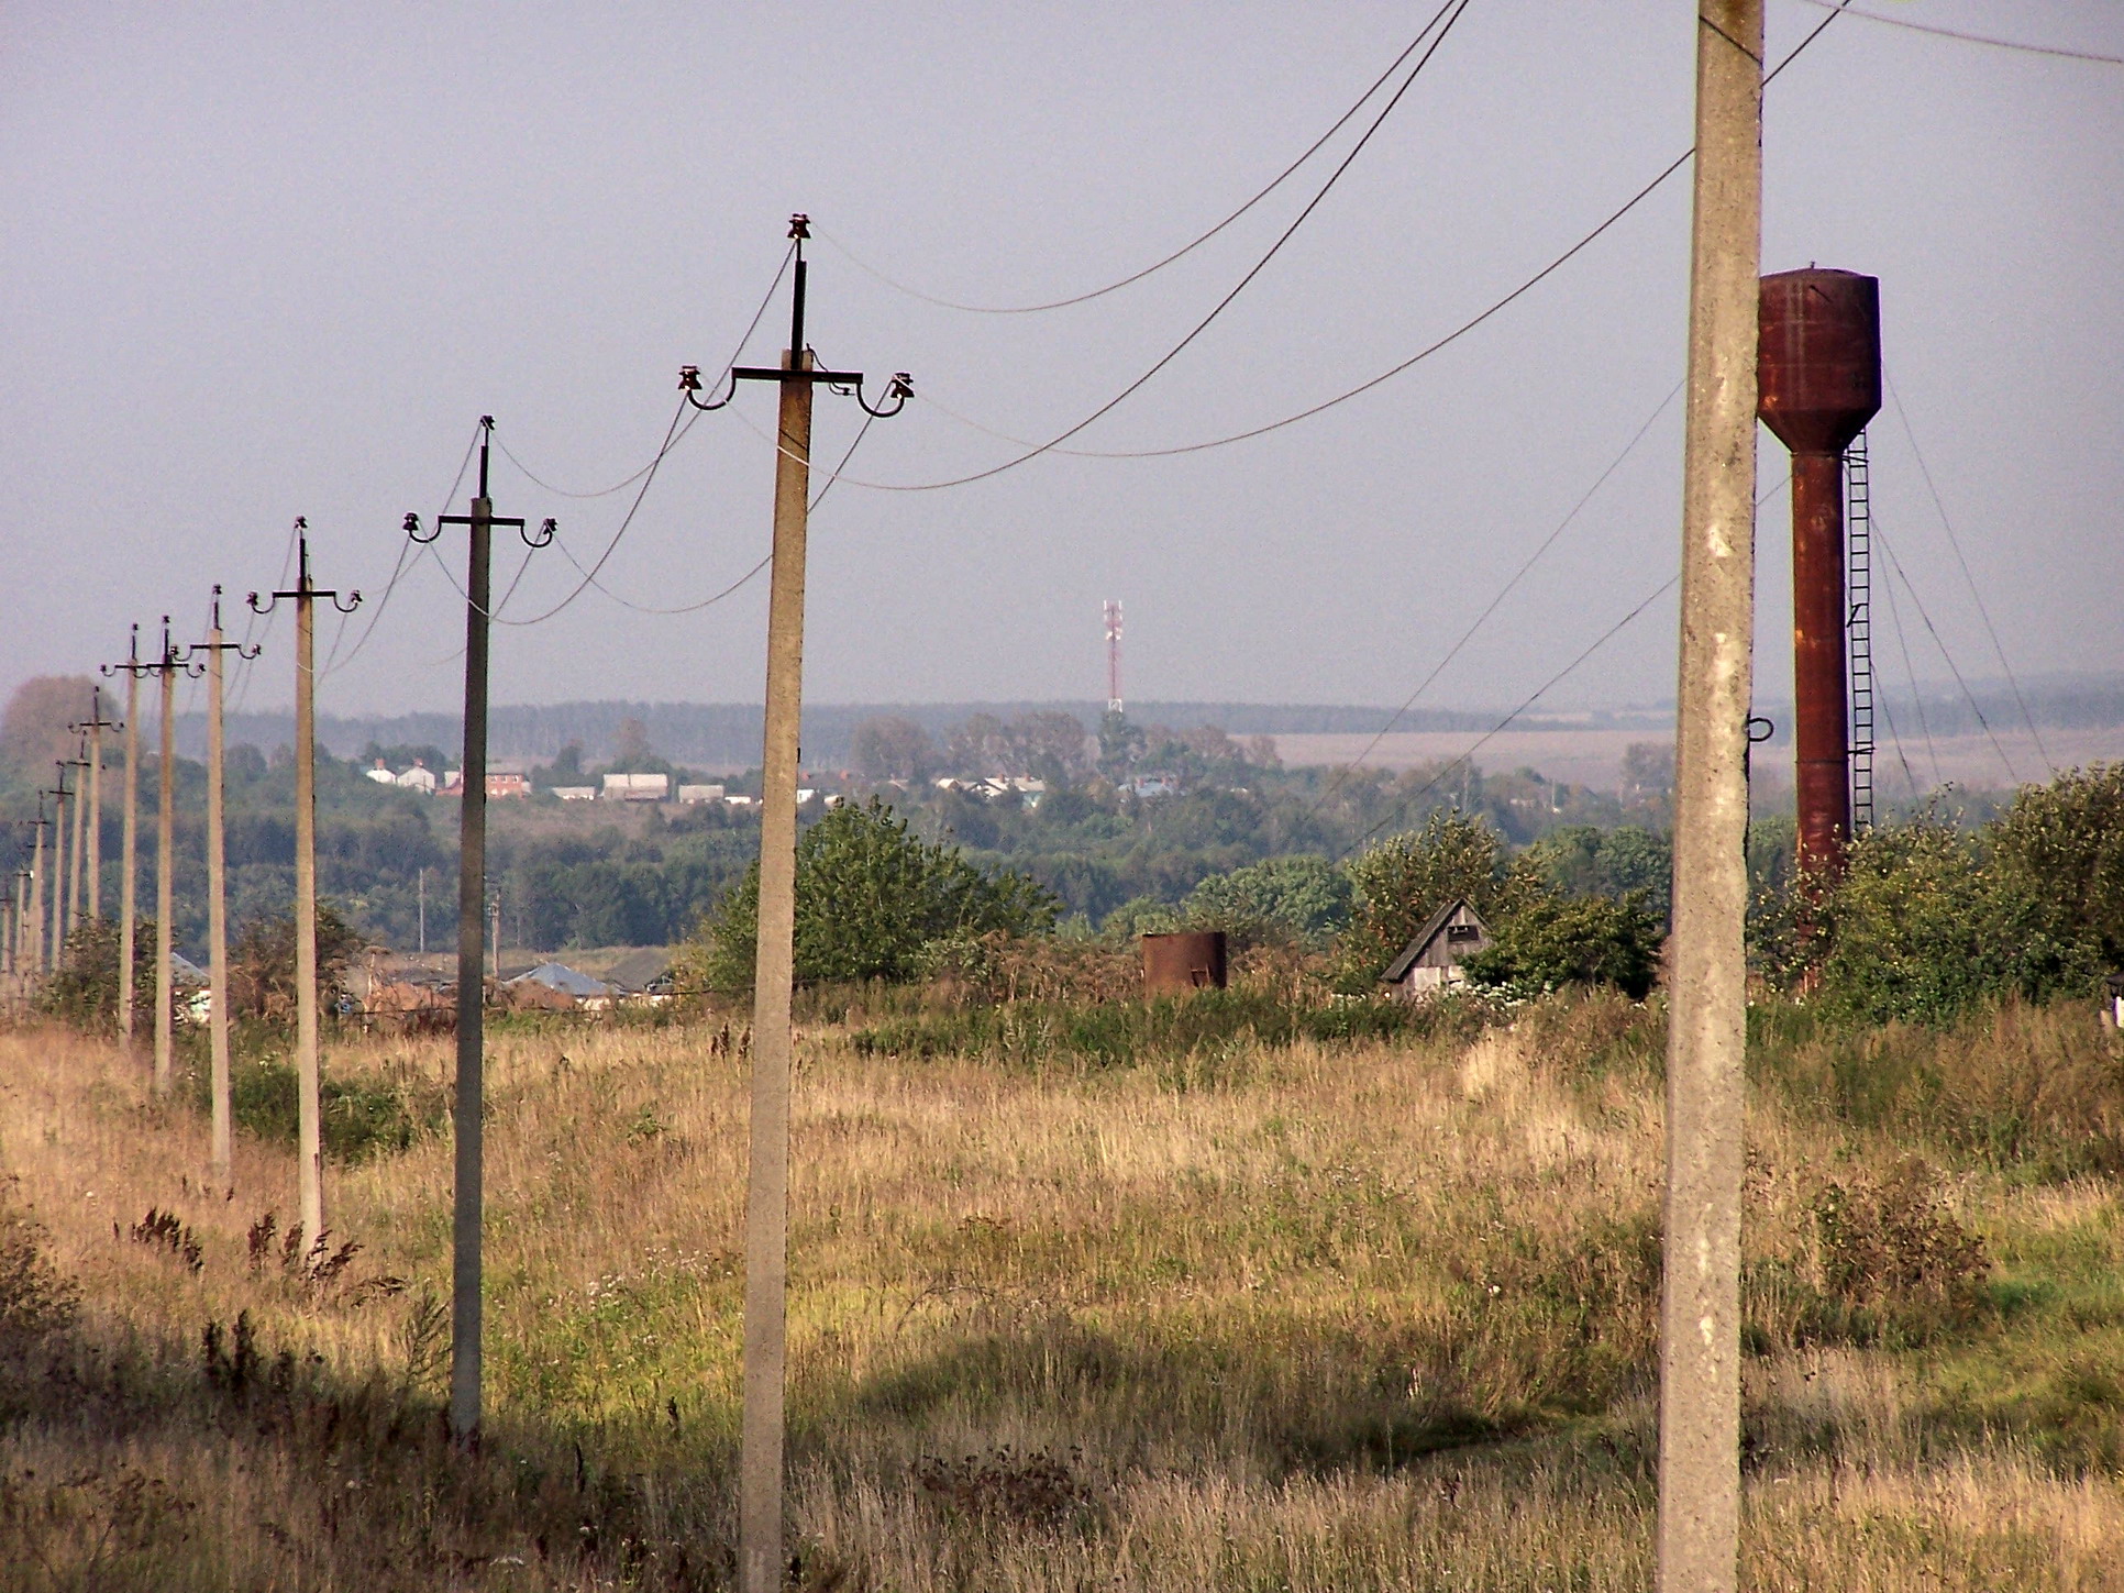
<path id="1" fill-rule="evenodd" d="M 790 304 L 790 346 L 780 367 L 739 365 L 737 382 L 782 389 L 775 450 L 773 586 L 767 597 L 767 746 L 760 784 L 760 915 L 752 973 L 752 1126 L 746 1177 L 746 1364 L 743 1429 L 737 1502 L 739 1593 L 782 1587 L 782 1442 L 788 1383 L 788 1162 L 790 1162 L 790 996 L 796 930 L 796 733 L 803 712 L 805 537 L 811 491 L 811 393 L 818 382 L 854 387 L 871 416 L 898 414 L 911 395 L 907 372 L 886 391 L 892 408 L 873 410 L 860 372 L 818 370 L 803 338 L 807 217 L 790 217 L 796 276 Z M 680 387 L 697 408 L 699 370 Z"/>

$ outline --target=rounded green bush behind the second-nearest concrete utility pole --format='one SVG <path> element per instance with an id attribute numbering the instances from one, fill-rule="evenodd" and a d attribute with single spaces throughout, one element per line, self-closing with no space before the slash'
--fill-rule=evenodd
<path id="1" fill-rule="evenodd" d="M 750 990 L 758 941 L 760 869 L 709 913 L 678 958 L 678 983 Z M 954 845 L 907 833 L 871 799 L 835 807 L 796 841 L 796 979 L 905 981 L 930 969 L 926 947 L 994 930 L 1054 928 L 1056 898 L 1022 873 L 983 873 Z"/>

